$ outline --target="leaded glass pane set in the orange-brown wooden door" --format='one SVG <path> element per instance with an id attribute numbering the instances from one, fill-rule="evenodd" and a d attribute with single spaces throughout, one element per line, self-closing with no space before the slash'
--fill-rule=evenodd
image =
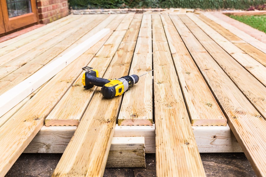
<path id="1" fill-rule="evenodd" d="M 31 13 L 30 0 L 7 0 L 8 17 Z"/>

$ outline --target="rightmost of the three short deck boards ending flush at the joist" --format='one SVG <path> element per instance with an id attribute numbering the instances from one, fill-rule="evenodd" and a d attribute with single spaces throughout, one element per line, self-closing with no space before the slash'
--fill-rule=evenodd
<path id="1" fill-rule="evenodd" d="M 226 126 L 226 118 L 168 15 L 161 15 L 192 126 Z"/>

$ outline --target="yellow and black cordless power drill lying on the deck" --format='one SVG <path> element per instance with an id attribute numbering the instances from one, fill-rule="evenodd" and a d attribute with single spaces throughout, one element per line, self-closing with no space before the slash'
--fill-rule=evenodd
<path id="1" fill-rule="evenodd" d="M 104 79 L 99 78 L 98 71 L 93 70 L 91 67 L 86 66 L 82 69 L 85 70 L 85 73 L 82 76 L 84 88 L 90 89 L 93 86 L 102 87 L 101 92 L 105 98 L 113 98 L 122 95 L 139 81 L 139 76 L 135 74 L 131 76 L 123 76 L 118 79 Z"/>

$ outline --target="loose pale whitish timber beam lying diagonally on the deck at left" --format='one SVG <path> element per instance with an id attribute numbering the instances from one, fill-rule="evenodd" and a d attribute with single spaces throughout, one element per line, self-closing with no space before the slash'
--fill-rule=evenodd
<path id="1" fill-rule="evenodd" d="M 91 36 L 74 49 L 59 57 L 57 60 L 47 64 L 36 73 L 14 86 L 9 91 L 0 95 L 0 117 L 41 85 L 43 85 L 43 83 L 51 79 L 59 71 L 69 65 L 69 63 L 78 58 L 82 53 L 88 50 L 109 32 L 110 29 L 103 29 L 97 32 L 95 35 Z"/>

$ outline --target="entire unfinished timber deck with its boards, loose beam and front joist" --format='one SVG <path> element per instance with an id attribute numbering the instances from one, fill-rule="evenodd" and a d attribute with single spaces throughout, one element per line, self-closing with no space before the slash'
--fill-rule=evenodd
<path id="1" fill-rule="evenodd" d="M 104 99 L 84 66 L 154 71 Z M 210 13 L 69 15 L 1 42 L 0 83 L 0 176 L 22 152 L 63 153 L 53 176 L 143 167 L 145 153 L 157 176 L 205 176 L 199 153 L 244 152 L 266 176 L 266 44 Z"/>

